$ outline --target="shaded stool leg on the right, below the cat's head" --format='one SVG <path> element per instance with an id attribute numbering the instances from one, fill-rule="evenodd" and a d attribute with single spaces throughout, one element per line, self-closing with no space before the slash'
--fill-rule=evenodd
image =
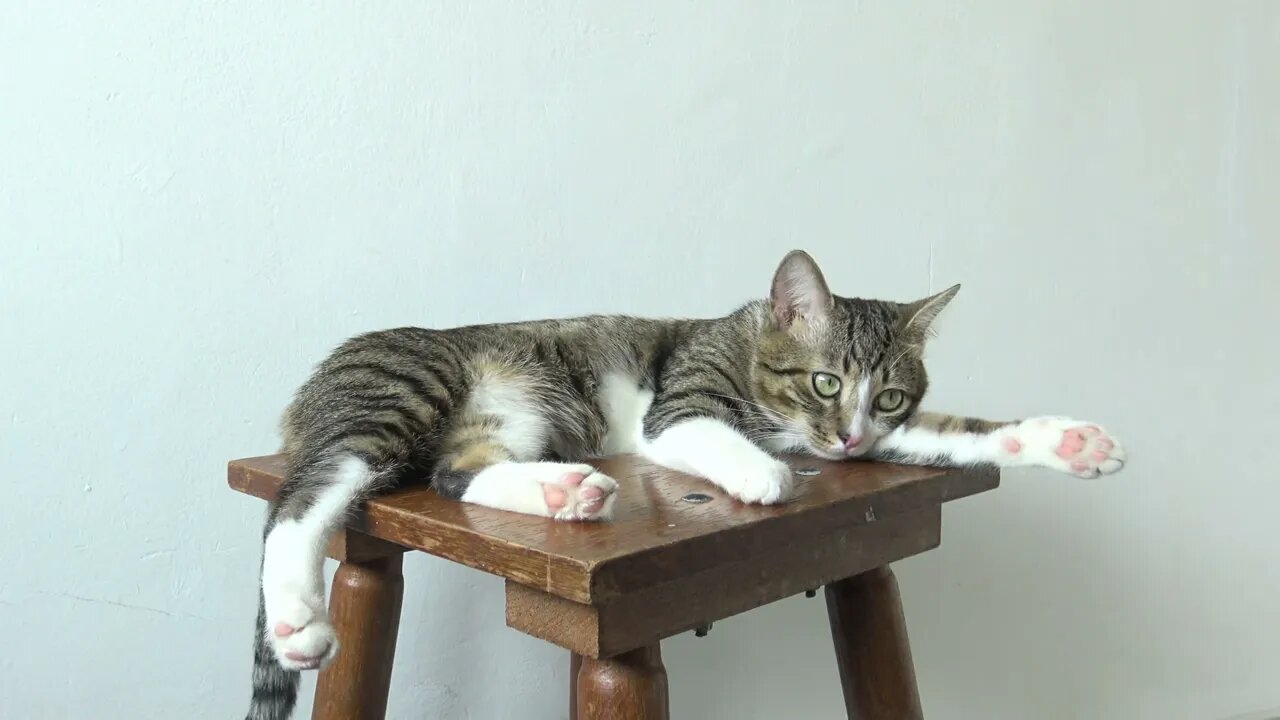
<path id="1" fill-rule="evenodd" d="M 922 720 L 893 571 L 877 568 L 827 585 L 827 618 L 849 720 Z"/>

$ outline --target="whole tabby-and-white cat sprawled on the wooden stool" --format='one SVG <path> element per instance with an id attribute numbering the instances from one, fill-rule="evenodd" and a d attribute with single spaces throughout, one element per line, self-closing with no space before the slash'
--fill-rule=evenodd
<path id="1" fill-rule="evenodd" d="M 264 530 L 248 720 L 292 711 L 298 671 L 338 651 L 325 542 L 402 478 L 557 520 L 608 520 L 618 483 L 584 462 L 636 452 L 748 503 L 792 491 L 777 452 L 828 460 L 1119 470 L 1100 425 L 918 411 L 922 354 L 959 286 L 909 304 L 832 295 L 804 251 L 767 300 L 703 320 L 588 316 L 355 337 L 284 413 L 285 480 Z"/>

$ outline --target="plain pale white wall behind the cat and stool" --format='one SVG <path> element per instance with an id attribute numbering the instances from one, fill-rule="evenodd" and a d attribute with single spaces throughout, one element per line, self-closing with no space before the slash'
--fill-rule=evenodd
<path id="1" fill-rule="evenodd" d="M 243 711 L 224 462 L 348 334 L 717 314 L 794 246 L 965 284 L 934 407 L 1130 446 L 900 564 L 931 717 L 1280 706 L 1280 4 L 61 5 L 0 4 L 0 716 Z M 392 717 L 563 717 L 499 582 L 406 573 Z M 824 623 L 672 639 L 676 716 L 838 716 Z"/>

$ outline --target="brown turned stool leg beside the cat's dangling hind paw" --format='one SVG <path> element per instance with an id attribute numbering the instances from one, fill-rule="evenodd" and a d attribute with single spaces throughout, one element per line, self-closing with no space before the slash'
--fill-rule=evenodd
<path id="1" fill-rule="evenodd" d="M 312 720 L 383 720 L 396 659 L 404 556 L 343 562 L 333 577 L 329 616 L 338 657 L 316 680 Z"/>

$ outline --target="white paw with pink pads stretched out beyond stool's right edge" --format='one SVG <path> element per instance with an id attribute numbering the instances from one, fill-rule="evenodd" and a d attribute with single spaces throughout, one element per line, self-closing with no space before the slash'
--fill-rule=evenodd
<path id="1" fill-rule="evenodd" d="M 1125 451 L 1100 425 L 1070 418 L 1032 418 L 1001 434 L 1010 465 L 1041 465 L 1080 478 L 1110 475 L 1124 468 Z"/>

